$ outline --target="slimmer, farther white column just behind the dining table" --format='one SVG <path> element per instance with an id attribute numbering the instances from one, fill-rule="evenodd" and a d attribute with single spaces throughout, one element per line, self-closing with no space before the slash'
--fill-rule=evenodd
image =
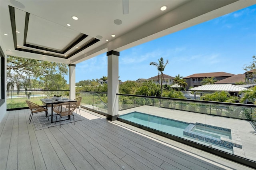
<path id="1" fill-rule="evenodd" d="M 69 64 L 69 98 L 76 98 L 76 65 Z"/>

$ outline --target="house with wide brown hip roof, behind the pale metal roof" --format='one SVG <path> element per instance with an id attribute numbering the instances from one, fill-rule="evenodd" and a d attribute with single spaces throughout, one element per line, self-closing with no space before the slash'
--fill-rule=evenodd
<path id="1" fill-rule="evenodd" d="M 202 85 L 202 81 L 205 78 L 215 77 L 217 80 L 222 80 L 222 79 L 231 77 L 233 75 L 234 74 L 226 73 L 226 72 L 196 73 L 196 74 L 192 74 L 187 77 L 184 77 L 183 79 L 186 79 L 186 83 L 188 83 L 188 85 L 186 86 L 186 89 L 188 90 L 189 87 L 197 87 Z"/>

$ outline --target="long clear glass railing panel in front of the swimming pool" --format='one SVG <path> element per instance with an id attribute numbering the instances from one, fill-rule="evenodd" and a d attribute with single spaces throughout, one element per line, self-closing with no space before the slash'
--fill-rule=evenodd
<path id="1" fill-rule="evenodd" d="M 120 119 L 256 161 L 256 106 L 132 97 L 144 102 L 119 111 Z"/>

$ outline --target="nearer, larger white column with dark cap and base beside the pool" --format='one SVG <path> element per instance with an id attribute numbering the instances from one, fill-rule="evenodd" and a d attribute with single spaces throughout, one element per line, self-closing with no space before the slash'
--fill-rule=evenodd
<path id="1" fill-rule="evenodd" d="M 119 52 L 108 51 L 108 114 L 107 119 L 115 121 L 118 117 L 118 57 Z"/>

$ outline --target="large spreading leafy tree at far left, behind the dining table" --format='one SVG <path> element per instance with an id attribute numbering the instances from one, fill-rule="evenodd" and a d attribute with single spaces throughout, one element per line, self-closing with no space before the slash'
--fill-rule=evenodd
<path id="1" fill-rule="evenodd" d="M 54 63 L 36 59 L 28 59 L 22 57 L 7 57 L 7 75 L 8 81 L 14 82 L 19 90 L 20 80 L 25 82 L 26 87 L 31 88 L 31 79 L 44 80 L 44 89 L 51 90 L 52 86 L 48 81 L 63 81 L 64 75 L 68 74 L 67 64 Z M 14 77 L 16 76 L 16 78 Z M 48 78 L 47 78 L 48 76 Z M 61 77 L 61 78 L 60 78 Z M 61 83 L 61 84 L 62 84 Z M 57 88 L 58 89 L 58 88 Z"/>

